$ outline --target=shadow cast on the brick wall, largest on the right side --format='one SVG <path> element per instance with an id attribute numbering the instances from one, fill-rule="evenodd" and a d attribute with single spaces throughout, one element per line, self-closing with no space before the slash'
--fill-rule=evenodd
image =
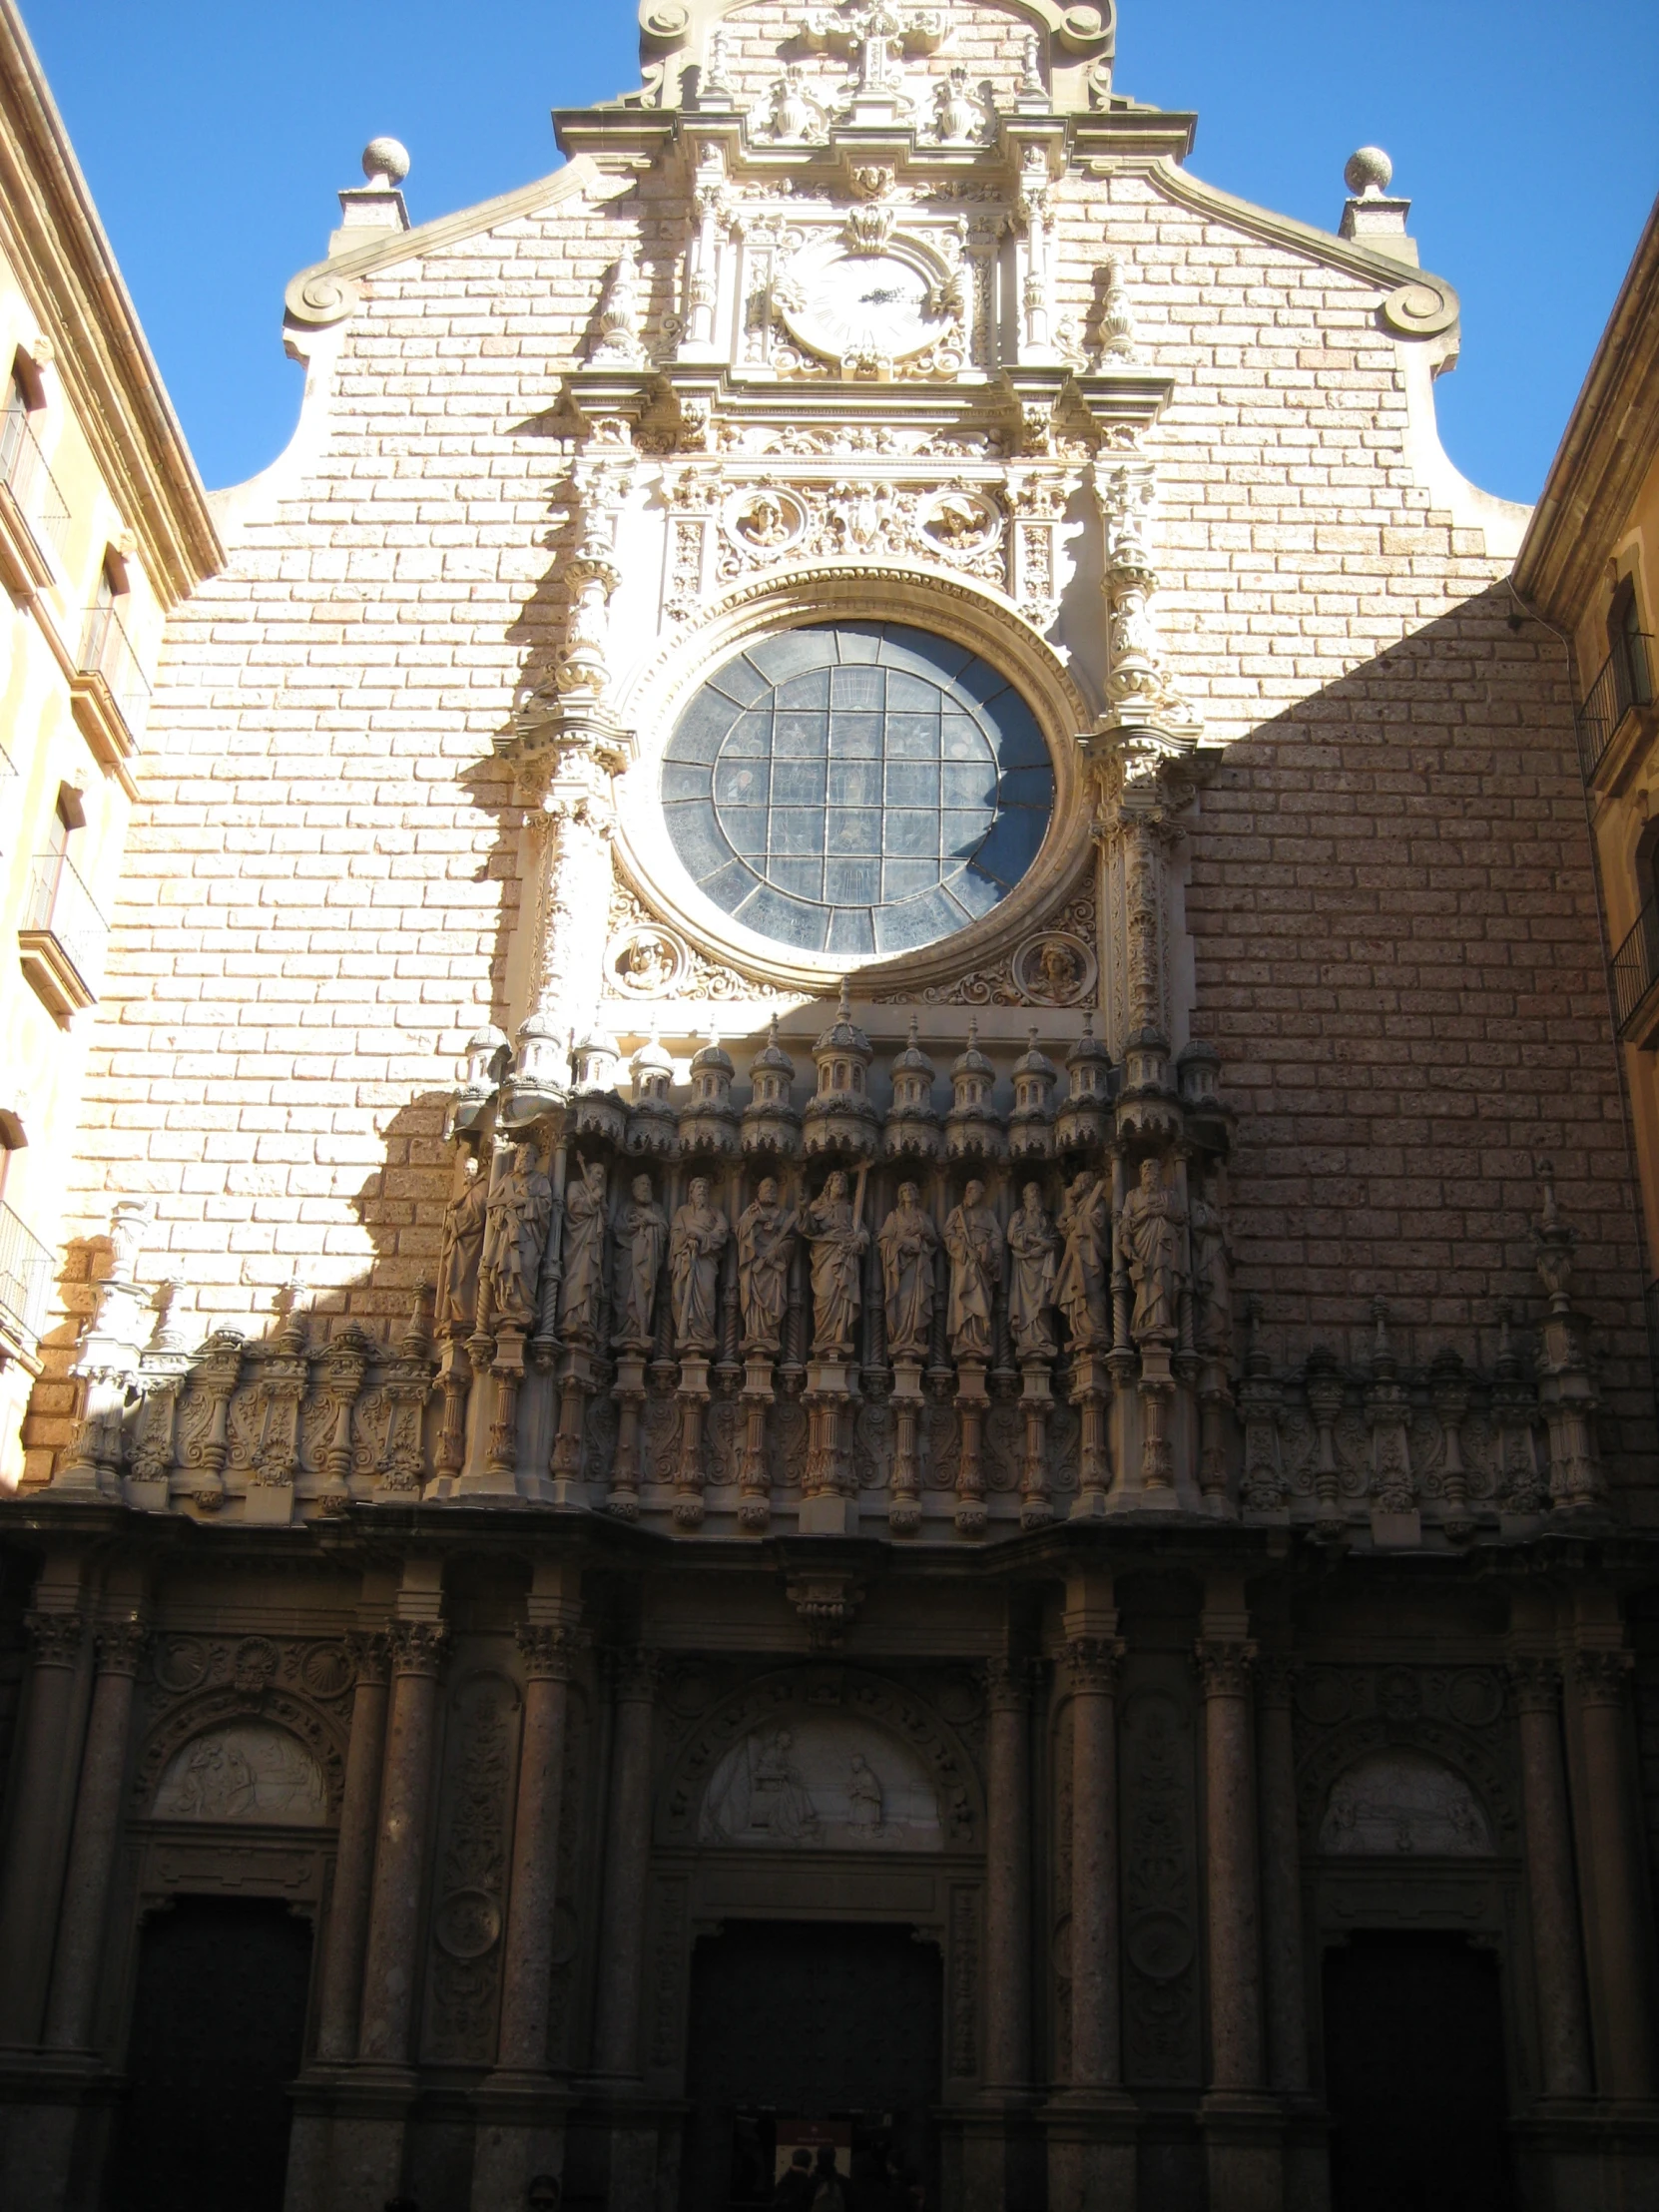
<path id="1" fill-rule="evenodd" d="M 566 597 L 555 560 L 513 624 L 520 697 L 551 688 Z M 1363 1358 L 1378 1296 L 1407 1360 L 1451 1345 L 1489 1367 L 1504 1307 L 1522 1334 L 1540 1312 L 1531 1223 L 1537 1161 L 1553 1161 L 1619 1484 L 1655 1449 L 1626 1104 L 1568 675 L 1557 641 L 1511 630 L 1509 611 L 1493 586 L 1228 748 L 1186 847 L 1192 1029 L 1237 1110 L 1237 1287 L 1276 1367 L 1314 1345 Z M 487 960 L 507 1029 L 522 812 L 495 757 L 458 781 L 495 821 Z M 383 1164 L 345 1201 L 374 1259 L 307 1294 L 316 1340 L 365 1329 L 396 1347 L 434 1281 L 447 1106 L 420 1091 L 389 1119 Z M 42 1478 L 69 1442 L 66 1371 L 106 1256 L 97 1239 L 69 1250 L 69 1318 L 31 1409 Z M 259 1329 L 270 1345 L 281 1323 Z"/>

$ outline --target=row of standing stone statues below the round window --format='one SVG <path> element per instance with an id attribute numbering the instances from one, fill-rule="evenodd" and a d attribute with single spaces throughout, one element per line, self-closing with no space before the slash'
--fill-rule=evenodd
<path id="1" fill-rule="evenodd" d="M 807 1245 L 812 1279 L 812 1356 L 854 1356 L 863 1307 L 865 1177 L 834 1170 L 816 1197 L 785 1201 L 765 1177 L 737 1221 L 737 1296 L 745 1354 L 776 1354 L 790 1305 L 796 1239 Z M 1020 1192 L 1006 1230 L 987 1203 L 982 1181 L 969 1181 L 945 1225 L 922 1206 L 914 1181 L 880 1230 L 883 1318 L 889 1358 L 925 1358 L 940 1294 L 945 1250 L 945 1334 L 953 1358 L 989 1360 L 998 1290 L 1006 1281 L 1009 1336 L 1020 1360 L 1057 1352 L 1064 1316 L 1073 1349 L 1108 1352 L 1124 1334 L 1137 1345 L 1183 1340 L 1212 1354 L 1232 1345 L 1232 1250 L 1225 1208 L 1214 1188 L 1186 1194 L 1159 1159 L 1144 1159 L 1139 1179 L 1113 1208 L 1113 1177 L 1075 1175 L 1060 1210 L 1044 1208 L 1042 1186 Z M 473 1329 L 538 1325 L 544 1259 L 555 1217 L 553 1181 L 535 1148 L 520 1144 L 493 1177 L 469 1177 L 445 1228 L 438 1323 L 449 1336 Z M 599 1347 L 606 1301 L 611 1340 L 646 1352 L 655 1340 L 657 1285 L 668 1256 L 668 1296 L 677 1354 L 708 1356 L 721 1338 L 721 1263 L 732 1223 L 708 1177 L 692 1177 L 672 1221 L 657 1203 L 648 1175 L 635 1175 L 628 1199 L 611 1217 L 606 1168 L 588 1161 L 564 1192 L 557 1252 L 557 1334 L 566 1345 Z M 1121 1318 L 1115 1316 L 1121 1292 Z M 546 1321 L 553 1316 L 546 1314 Z"/>

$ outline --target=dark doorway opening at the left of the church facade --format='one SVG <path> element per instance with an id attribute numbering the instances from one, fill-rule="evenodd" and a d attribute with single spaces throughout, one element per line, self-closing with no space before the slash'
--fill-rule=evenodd
<path id="1" fill-rule="evenodd" d="M 144 1924 L 108 2212 L 281 2212 L 312 1931 L 279 1900 Z"/>

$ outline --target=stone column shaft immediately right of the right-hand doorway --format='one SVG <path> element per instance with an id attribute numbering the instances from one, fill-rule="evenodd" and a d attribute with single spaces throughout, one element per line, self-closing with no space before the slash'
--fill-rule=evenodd
<path id="1" fill-rule="evenodd" d="M 1533 1922 L 1542 2086 L 1546 2097 L 1588 2097 L 1590 2033 L 1584 2013 L 1584 1953 L 1562 1767 L 1562 1677 L 1553 1657 L 1522 1652 L 1509 1663 L 1509 1683 L 1522 1754 L 1526 1907 Z"/>

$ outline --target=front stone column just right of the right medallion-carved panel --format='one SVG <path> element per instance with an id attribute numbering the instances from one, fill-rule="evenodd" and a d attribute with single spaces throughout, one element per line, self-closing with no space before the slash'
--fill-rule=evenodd
<path id="1" fill-rule="evenodd" d="M 1217 1577 L 1197 1646 L 1203 1683 L 1203 1878 L 1210 1931 L 1210 2090 L 1203 2135 L 1210 2203 L 1279 2212 L 1283 2141 L 1261 2093 L 1261 1907 L 1256 1778 L 1243 1593 Z"/>

